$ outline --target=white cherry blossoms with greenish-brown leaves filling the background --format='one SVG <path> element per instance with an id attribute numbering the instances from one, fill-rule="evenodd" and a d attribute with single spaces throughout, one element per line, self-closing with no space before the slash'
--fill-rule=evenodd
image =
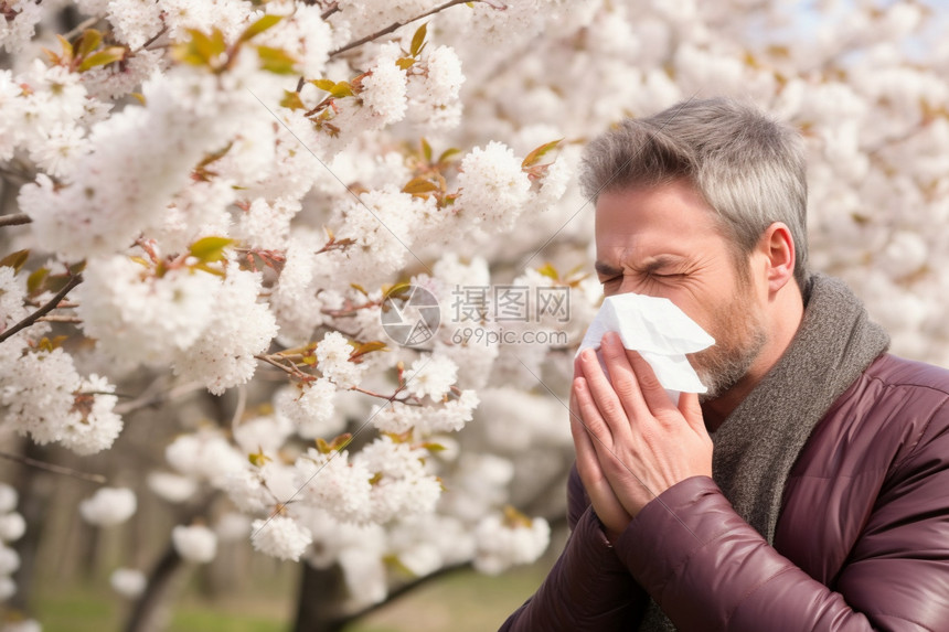
<path id="1" fill-rule="evenodd" d="M 935 2 L 0 11 L 6 456 L 26 460 L 18 437 L 100 453 L 198 390 L 228 407 L 142 472 L 198 510 L 153 568 L 116 569 L 139 600 L 129 630 L 175 560 L 213 559 L 224 534 L 303 563 L 305 591 L 339 578 L 301 601 L 299 626 L 321 630 L 446 569 L 543 553 L 559 512 L 543 499 L 571 463 L 572 349 L 600 298 L 576 170 L 623 116 L 727 95 L 799 126 L 812 267 L 851 282 L 895 351 L 949 361 Z M 431 306 L 420 339 L 386 326 L 430 325 Z M 86 521 L 135 514 L 132 491 L 98 484 Z M 17 503 L 0 488 L 0 599 L 25 588 Z"/>

